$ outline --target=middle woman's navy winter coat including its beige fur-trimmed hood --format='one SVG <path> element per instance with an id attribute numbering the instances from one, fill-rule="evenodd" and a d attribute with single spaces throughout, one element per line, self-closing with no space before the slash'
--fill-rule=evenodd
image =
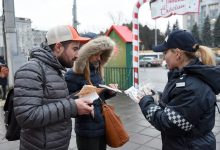
<path id="1" fill-rule="evenodd" d="M 79 58 L 74 63 L 74 69 L 70 69 L 66 75 L 65 80 L 70 94 L 80 91 L 80 89 L 89 84 L 83 73 L 85 69 L 86 62 L 88 58 L 94 54 L 101 54 L 101 64 L 104 65 L 108 59 L 111 57 L 113 52 L 114 44 L 112 40 L 108 37 L 99 37 L 97 39 L 91 40 L 89 43 L 85 44 L 79 50 Z M 93 65 L 90 64 L 90 79 L 93 86 L 98 87 L 99 84 L 104 84 L 102 75 L 99 71 L 95 69 Z M 104 90 L 100 95 L 102 100 L 109 99 L 115 96 L 115 93 L 112 93 L 109 90 Z M 75 132 L 76 135 L 83 137 L 98 137 L 105 134 L 104 128 L 104 118 L 102 115 L 101 109 L 101 100 L 95 100 L 93 102 L 95 117 L 91 115 L 79 116 L 75 119 Z"/>

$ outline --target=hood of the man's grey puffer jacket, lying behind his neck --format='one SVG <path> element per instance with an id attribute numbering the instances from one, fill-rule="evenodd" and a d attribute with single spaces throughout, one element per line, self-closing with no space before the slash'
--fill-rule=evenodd
<path id="1" fill-rule="evenodd" d="M 30 51 L 30 58 L 36 58 L 53 68 L 65 70 L 45 42 L 40 47 L 36 47 Z"/>

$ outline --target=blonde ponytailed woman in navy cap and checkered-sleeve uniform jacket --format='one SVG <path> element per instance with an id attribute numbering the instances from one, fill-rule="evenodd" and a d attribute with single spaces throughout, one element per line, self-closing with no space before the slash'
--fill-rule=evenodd
<path id="1" fill-rule="evenodd" d="M 220 92 L 220 67 L 212 50 L 198 45 L 185 30 L 171 32 L 164 43 L 153 48 L 163 52 L 168 82 L 156 105 L 140 91 L 139 105 L 145 118 L 161 131 L 163 150 L 216 149 L 216 94 Z"/>

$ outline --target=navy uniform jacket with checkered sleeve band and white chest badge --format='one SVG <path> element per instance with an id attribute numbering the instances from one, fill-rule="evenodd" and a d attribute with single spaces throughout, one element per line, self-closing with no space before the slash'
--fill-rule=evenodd
<path id="1" fill-rule="evenodd" d="M 163 150 L 215 150 L 212 133 L 220 67 L 198 59 L 180 71 L 168 73 L 160 105 L 151 96 L 139 103 L 145 118 L 159 131 Z"/>

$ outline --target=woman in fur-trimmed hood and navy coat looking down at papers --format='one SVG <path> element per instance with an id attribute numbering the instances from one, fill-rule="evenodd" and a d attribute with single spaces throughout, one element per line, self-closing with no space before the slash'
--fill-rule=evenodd
<path id="1" fill-rule="evenodd" d="M 65 80 L 70 94 L 80 91 L 84 85 L 98 87 L 104 84 L 104 65 L 113 54 L 115 43 L 107 36 L 100 36 L 84 44 L 78 53 L 78 58 L 74 62 L 74 67 L 70 69 Z M 112 88 L 117 88 L 117 84 L 110 84 Z M 102 100 L 115 96 L 116 93 L 104 90 L 99 96 Z M 75 119 L 76 143 L 78 150 L 105 150 L 105 129 L 104 118 L 101 113 L 101 101 L 95 100 L 94 117 L 91 115 L 79 116 Z"/>

